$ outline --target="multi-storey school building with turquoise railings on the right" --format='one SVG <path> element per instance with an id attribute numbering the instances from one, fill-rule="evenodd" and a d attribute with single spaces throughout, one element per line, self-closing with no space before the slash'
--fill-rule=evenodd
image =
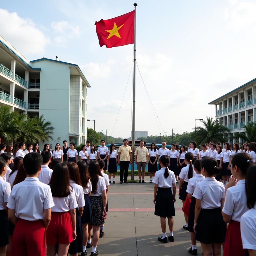
<path id="1" fill-rule="evenodd" d="M 256 78 L 208 104 L 215 105 L 216 120 L 229 128 L 233 144 L 230 135 L 244 132 L 244 124 L 256 120 Z"/>

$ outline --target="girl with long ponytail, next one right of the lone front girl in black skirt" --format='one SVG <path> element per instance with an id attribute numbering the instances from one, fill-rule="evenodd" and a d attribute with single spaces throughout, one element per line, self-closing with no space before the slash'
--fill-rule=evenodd
<path id="1" fill-rule="evenodd" d="M 184 205 L 186 197 L 187 197 L 187 186 L 189 179 L 193 178 L 196 175 L 194 167 L 192 165 L 192 159 L 194 155 L 192 152 L 187 152 L 185 154 L 185 164 L 186 167 L 181 169 L 179 174 L 179 199 L 182 200 L 182 204 Z M 184 213 L 185 218 L 185 225 L 183 226 L 184 229 L 188 230 L 188 216 Z"/>

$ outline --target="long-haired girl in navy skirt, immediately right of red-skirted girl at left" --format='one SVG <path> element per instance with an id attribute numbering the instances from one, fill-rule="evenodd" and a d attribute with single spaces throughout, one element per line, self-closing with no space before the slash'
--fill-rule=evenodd
<path id="1" fill-rule="evenodd" d="M 78 256 L 78 253 L 83 252 L 83 236 L 81 216 L 83 207 L 85 206 L 83 187 L 80 179 L 79 168 L 76 163 L 69 162 L 67 164 L 69 170 L 70 185 L 73 187 L 78 207 L 76 208 L 76 240 L 70 243 L 69 254 Z"/>

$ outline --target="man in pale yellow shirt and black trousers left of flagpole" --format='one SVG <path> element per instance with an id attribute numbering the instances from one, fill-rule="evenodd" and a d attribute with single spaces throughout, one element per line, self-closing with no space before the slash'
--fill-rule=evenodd
<path id="1" fill-rule="evenodd" d="M 128 146 L 127 139 L 124 139 L 124 145 L 118 150 L 118 164 L 120 165 L 120 184 L 127 182 L 129 164 L 132 163 L 132 149 Z"/>

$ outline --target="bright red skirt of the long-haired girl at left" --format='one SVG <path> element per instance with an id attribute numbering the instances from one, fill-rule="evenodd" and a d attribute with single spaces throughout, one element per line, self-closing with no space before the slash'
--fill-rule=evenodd
<path id="1" fill-rule="evenodd" d="M 51 221 L 46 229 L 46 243 L 66 244 L 73 241 L 73 228 L 70 212 L 52 212 Z"/>

